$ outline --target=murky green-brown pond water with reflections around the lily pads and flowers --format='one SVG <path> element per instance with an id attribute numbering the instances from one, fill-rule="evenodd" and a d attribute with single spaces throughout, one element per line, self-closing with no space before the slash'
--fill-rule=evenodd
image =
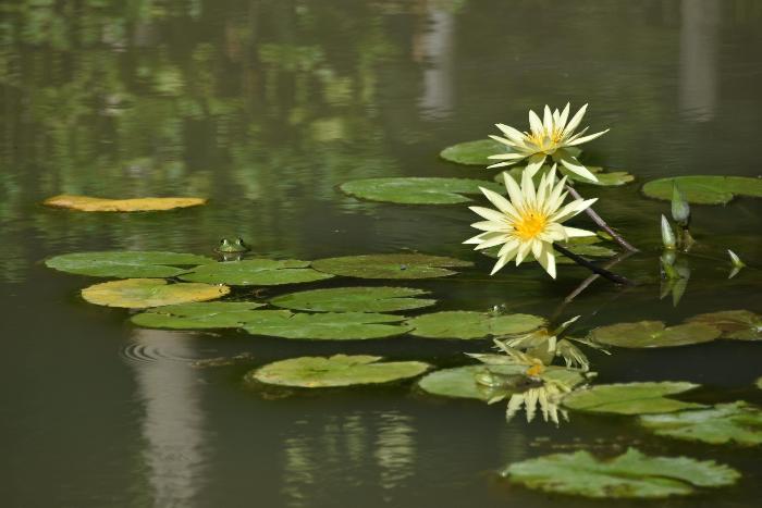
<path id="1" fill-rule="evenodd" d="M 28 0 L 2 2 L 0 14 L 3 506 L 599 506 L 509 485 L 496 471 L 553 450 L 612 455 L 629 445 L 743 473 L 736 486 L 668 506 L 762 497 L 754 448 L 655 438 L 625 418 L 506 423 L 503 404 L 427 397 L 409 383 L 282 397 L 242 382 L 274 360 L 333 352 L 464 364 L 463 352 L 487 351 L 489 340 L 139 329 L 127 311 L 81 299 L 98 280 L 41 263 L 107 249 L 208 255 L 239 235 L 273 258 L 411 249 L 470 260 L 476 268 L 456 276 L 407 285 L 431 290 L 437 310 L 580 314 L 580 334 L 760 312 L 762 200 L 693 207 L 699 245 L 673 306 L 660 299 L 657 261 L 659 216 L 669 207 L 639 191 L 662 176 L 760 176 L 759 1 Z M 588 160 L 636 176 L 580 190 L 641 248 L 616 265 L 637 287 L 598 281 L 560 307 L 588 273 L 562 265 L 554 282 L 526 264 L 490 277 L 493 261 L 460 244 L 474 234 L 465 206 L 371 203 L 337 189 L 378 176 L 489 179 L 492 171 L 439 151 L 567 101 L 590 102 L 593 132 L 611 127 Z M 63 193 L 210 201 L 138 214 L 39 205 Z M 577 223 L 592 227 L 585 216 Z M 732 280 L 727 248 L 752 265 Z M 346 284 L 362 282 L 304 287 Z M 241 354 L 253 358 L 192 364 Z M 702 401 L 762 402 L 754 343 L 590 358 L 597 382 L 683 380 L 703 385 Z"/>

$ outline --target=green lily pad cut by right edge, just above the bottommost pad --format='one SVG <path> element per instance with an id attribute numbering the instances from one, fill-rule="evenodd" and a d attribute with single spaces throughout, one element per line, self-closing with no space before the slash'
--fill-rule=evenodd
<path id="1" fill-rule="evenodd" d="M 717 404 L 711 409 L 648 414 L 638 423 L 657 435 L 713 445 L 762 444 L 762 411 L 743 401 Z"/>

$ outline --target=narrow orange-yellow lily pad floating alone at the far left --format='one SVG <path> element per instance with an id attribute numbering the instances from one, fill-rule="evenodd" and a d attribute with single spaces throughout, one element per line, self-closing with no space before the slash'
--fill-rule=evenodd
<path id="1" fill-rule="evenodd" d="M 42 201 L 48 207 L 67 208 L 82 212 L 153 212 L 206 205 L 205 198 L 134 198 L 105 199 L 62 194 Z"/>

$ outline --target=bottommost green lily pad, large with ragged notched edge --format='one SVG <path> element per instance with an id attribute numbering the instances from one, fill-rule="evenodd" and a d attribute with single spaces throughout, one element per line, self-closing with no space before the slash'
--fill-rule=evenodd
<path id="1" fill-rule="evenodd" d="M 740 473 L 714 461 L 650 457 L 636 448 L 604 460 L 580 450 L 509 464 L 512 482 L 556 494 L 592 498 L 664 498 L 695 494 L 697 487 L 733 485 Z"/>

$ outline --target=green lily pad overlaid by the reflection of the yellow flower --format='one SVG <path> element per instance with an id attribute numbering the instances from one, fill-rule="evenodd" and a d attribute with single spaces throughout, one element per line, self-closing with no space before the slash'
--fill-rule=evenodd
<path id="1" fill-rule="evenodd" d="M 482 373 L 495 374 L 496 377 L 505 377 L 506 383 L 500 386 L 486 386 L 477 382 L 477 375 Z M 474 398 L 482 401 L 492 399 L 495 393 L 520 392 L 526 387 L 521 377 L 527 372 L 527 365 L 517 363 L 493 365 L 465 365 L 453 369 L 442 369 L 425 375 L 418 381 L 418 386 L 430 395 L 451 398 Z M 546 381 L 557 381 L 565 386 L 576 386 L 585 381 L 585 376 L 562 367 L 548 367 L 542 373 Z M 528 381 L 527 377 L 524 377 Z"/>

